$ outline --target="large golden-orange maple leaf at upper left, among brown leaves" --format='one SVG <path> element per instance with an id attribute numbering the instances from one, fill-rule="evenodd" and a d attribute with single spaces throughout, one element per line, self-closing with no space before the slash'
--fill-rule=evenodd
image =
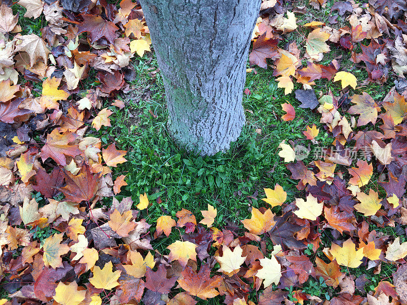
<path id="1" fill-rule="evenodd" d="M 40 105 L 42 109 L 59 109 L 60 104 L 57 101 L 66 100 L 70 94 L 64 90 L 58 89 L 61 78 L 47 78 L 42 83 L 42 96 L 40 98 Z"/>

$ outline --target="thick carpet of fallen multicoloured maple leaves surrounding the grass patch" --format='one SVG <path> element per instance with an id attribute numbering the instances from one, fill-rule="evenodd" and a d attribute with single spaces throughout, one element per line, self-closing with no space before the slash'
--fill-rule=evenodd
<path id="1" fill-rule="evenodd" d="M 332 10 L 347 15 L 352 27 L 312 21 L 303 25 L 310 28 L 304 45 L 287 50 L 277 44 L 297 30 L 298 13 L 263 1 L 250 63 L 268 68 L 271 58 L 285 94 L 294 80 L 302 84 L 295 92 L 300 107 L 320 113 L 335 141 L 310 163 L 299 160 L 295 143 L 281 142 L 278 155 L 298 181 L 298 198 L 289 202 L 276 184 L 264 190 L 264 205 L 252 207 L 249 219 L 224 228 L 213 226 L 211 205 L 201 215 L 182 209 L 149 224 L 140 212 L 154 204 L 147 194 L 136 203 L 114 198 L 127 183 L 124 175 L 113 181 L 112 167 L 126 162 L 126 151 L 102 142 L 95 130 L 111 125 L 111 109 L 124 107 L 114 97 L 129 89 L 130 60 L 151 42 L 135 3 L 123 0 L 119 9 L 96 3 L 18 1 L 25 17 L 44 15 L 41 37 L 21 35 L 7 2 L 0 7 L 0 277 L 11 299 L 2 304 L 176 305 L 219 295 L 228 305 L 407 303 L 407 241 L 371 229 L 391 227 L 405 236 L 407 225 L 403 1 L 337 2 Z M 316 64 L 328 43 L 352 52 L 368 72 L 366 82 L 382 84 L 395 74 L 398 86 L 375 101 L 336 60 Z M 91 73 L 99 81 L 84 89 Z M 312 88 L 321 78 L 341 81 L 341 96 L 317 97 Z M 42 80 L 42 88 L 34 85 Z M 282 107 L 283 120 L 295 119 L 292 105 Z M 318 143 L 315 125 L 303 133 Z M 384 265 L 397 271 L 370 294 L 368 280 L 349 271 L 378 274 Z M 328 292 L 305 292 L 311 279 Z"/>

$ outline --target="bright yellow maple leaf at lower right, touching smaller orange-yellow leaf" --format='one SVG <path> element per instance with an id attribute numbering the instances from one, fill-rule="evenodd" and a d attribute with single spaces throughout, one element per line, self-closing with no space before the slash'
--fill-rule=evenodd
<path id="1" fill-rule="evenodd" d="M 336 262 L 341 266 L 357 268 L 362 263 L 363 249 L 356 250 L 355 244 L 351 238 L 343 242 L 343 247 L 332 243 L 331 255 L 336 259 Z"/>

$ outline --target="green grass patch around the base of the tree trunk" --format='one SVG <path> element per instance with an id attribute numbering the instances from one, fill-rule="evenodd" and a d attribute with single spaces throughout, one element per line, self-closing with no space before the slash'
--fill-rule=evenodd
<path id="1" fill-rule="evenodd" d="M 199 215 L 209 203 L 218 209 L 215 225 L 224 225 L 246 218 L 250 205 L 266 206 L 259 200 L 264 198 L 263 188 L 274 188 L 279 183 L 290 199 L 297 196 L 297 183 L 289 179 L 290 172 L 280 161 L 277 147 L 282 140 L 308 145 L 310 141 L 302 131 L 307 125 L 319 126 L 319 113 L 296 107 L 298 101 L 277 88 L 272 71 L 259 69 L 257 74 L 247 75 L 246 87 L 252 94 L 244 96 L 247 124 L 239 140 L 227 153 L 198 157 L 183 151 L 166 133 L 162 82 L 159 75 L 152 80 L 147 73 L 156 68 L 155 60 L 147 64 L 141 59 L 135 67 L 139 72 L 139 79 L 132 84 L 135 92 L 125 99 L 128 107 L 115 112 L 112 133 L 117 145 L 129 150 L 129 162 L 119 169 L 127 173 L 129 184 L 121 195 L 131 195 L 137 201 L 139 194 L 146 192 L 153 202 L 148 221 L 154 222 L 166 211 L 175 215 L 181 208 Z M 151 95 L 144 99 L 147 83 Z M 280 104 L 285 102 L 296 107 L 297 118 L 293 121 L 280 120 L 285 113 Z M 324 133 L 317 140 L 331 142 Z M 155 200 L 159 196 L 160 204 Z"/>

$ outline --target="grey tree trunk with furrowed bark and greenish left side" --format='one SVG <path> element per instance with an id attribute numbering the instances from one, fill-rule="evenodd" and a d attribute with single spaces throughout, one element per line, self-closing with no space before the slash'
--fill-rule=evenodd
<path id="1" fill-rule="evenodd" d="M 168 103 L 170 135 L 214 155 L 237 140 L 260 0 L 140 0 Z"/>

